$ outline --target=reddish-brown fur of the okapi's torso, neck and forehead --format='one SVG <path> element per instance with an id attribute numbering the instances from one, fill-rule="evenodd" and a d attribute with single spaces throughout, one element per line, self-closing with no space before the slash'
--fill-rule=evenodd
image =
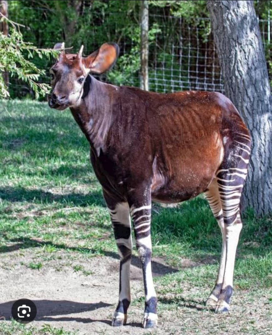
<path id="1" fill-rule="evenodd" d="M 107 57 L 102 53 L 105 66 L 113 62 L 112 49 Z M 83 63 L 94 59 L 93 54 Z M 61 71 L 63 66 L 76 76 L 83 74 L 75 54 L 66 55 L 53 68 Z M 97 175 L 101 174 L 102 186 L 110 190 L 114 185 L 122 199 L 143 181 L 149 183 L 154 200 L 180 202 L 195 197 L 207 189 L 219 169 L 227 149 L 223 136 L 231 138 L 229 133 L 236 130 L 248 134 L 233 104 L 217 92 L 158 94 L 117 88 L 94 78 L 86 89 L 89 96 L 71 111 L 93 148 L 92 161 L 97 160 L 95 170 L 101 170 Z M 94 90 L 97 93 L 92 94 Z M 102 106 L 103 100 L 109 104 Z M 104 124 L 94 140 L 88 133 L 90 119 Z"/>

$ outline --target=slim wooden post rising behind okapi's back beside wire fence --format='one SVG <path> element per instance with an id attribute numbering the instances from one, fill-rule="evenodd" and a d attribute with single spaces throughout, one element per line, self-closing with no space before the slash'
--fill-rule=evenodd
<path id="1" fill-rule="evenodd" d="M 140 9 L 141 24 L 141 75 L 140 88 L 148 91 L 148 1 L 142 0 Z"/>

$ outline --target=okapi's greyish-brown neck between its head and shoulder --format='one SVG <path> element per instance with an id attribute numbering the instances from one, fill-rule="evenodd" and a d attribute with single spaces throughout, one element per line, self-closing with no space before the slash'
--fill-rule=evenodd
<path id="1" fill-rule="evenodd" d="M 113 93 L 118 87 L 105 84 L 92 76 L 85 80 L 81 103 L 70 108 L 71 113 L 97 156 L 106 150 L 106 141 L 112 124 Z"/>

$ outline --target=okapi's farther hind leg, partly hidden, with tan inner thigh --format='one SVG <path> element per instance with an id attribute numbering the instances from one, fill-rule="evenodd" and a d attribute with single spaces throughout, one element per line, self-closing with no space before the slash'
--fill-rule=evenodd
<path id="1" fill-rule="evenodd" d="M 217 220 L 217 223 L 222 233 L 222 250 L 221 250 L 219 270 L 215 286 L 206 301 L 206 306 L 215 308 L 217 305 L 219 295 L 221 293 L 224 272 L 225 272 L 225 264 L 226 264 L 226 229 L 224 225 L 222 204 L 216 179 L 214 179 L 209 185 L 208 190 L 205 192 L 205 197 L 208 200 L 210 208 L 213 212 L 215 219 Z"/>

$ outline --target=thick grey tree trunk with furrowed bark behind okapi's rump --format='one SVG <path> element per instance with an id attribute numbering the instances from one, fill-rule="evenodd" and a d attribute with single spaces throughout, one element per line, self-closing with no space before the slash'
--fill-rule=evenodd
<path id="1" fill-rule="evenodd" d="M 271 94 L 253 1 L 207 1 L 225 95 L 246 123 L 252 139 L 242 209 L 272 210 Z"/>

